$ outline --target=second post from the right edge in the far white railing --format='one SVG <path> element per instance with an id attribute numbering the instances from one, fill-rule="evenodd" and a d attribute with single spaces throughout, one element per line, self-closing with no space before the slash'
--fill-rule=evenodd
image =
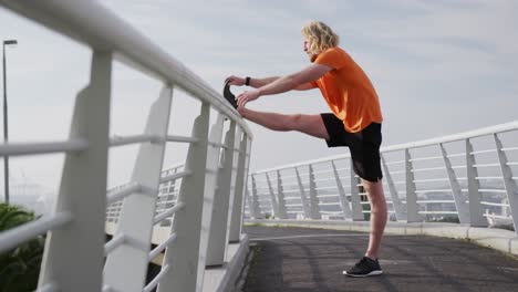
<path id="1" fill-rule="evenodd" d="M 475 167 L 475 155 L 473 154 L 473 145 L 469 139 L 466 139 L 466 170 L 468 178 L 468 196 L 469 196 L 469 225 L 474 227 L 486 227 L 487 219 L 484 218 L 484 212 L 480 204 L 480 192 L 478 182 L 478 170 Z"/>

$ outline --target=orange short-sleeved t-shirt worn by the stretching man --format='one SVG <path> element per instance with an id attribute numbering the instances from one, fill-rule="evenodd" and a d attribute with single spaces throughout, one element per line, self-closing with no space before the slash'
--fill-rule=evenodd
<path id="1" fill-rule="evenodd" d="M 328 49 L 313 62 L 333 69 L 312 84 L 320 88 L 331 112 L 343 121 L 348 132 L 356 133 L 372 122 L 383 121 L 374 86 L 345 51 L 338 46 Z"/>

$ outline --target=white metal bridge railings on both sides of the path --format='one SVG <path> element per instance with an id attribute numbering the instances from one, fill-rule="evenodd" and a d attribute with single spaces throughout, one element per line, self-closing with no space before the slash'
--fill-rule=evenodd
<path id="1" fill-rule="evenodd" d="M 232 291 L 249 254 L 244 222 L 369 230 L 350 156 L 250 173 L 252 133 L 238 113 L 101 3 L 0 4 L 92 50 L 70 138 L 0 146 L 2 157 L 65 154 L 53 212 L 0 233 L 0 252 L 46 233 L 38 291 Z M 143 134 L 110 133 L 114 62 L 163 82 Z M 168 132 L 178 88 L 200 102 L 190 136 Z M 517 129 L 511 122 L 383 148 L 386 231 L 469 238 L 518 254 Z M 163 165 L 167 143 L 188 144 L 180 165 Z M 139 149 L 131 181 L 107 189 L 110 148 L 132 144 Z M 160 268 L 146 281 L 149 262 Z"/>

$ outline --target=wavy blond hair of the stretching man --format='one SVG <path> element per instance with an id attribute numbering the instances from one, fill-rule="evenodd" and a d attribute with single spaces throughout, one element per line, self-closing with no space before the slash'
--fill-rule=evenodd
<path id="1" fill-rule="evenodd" d="M 320 54 L 321 52 L 336 46 L 340 38 L 328 24 L 321 21 L 311 21 L 302 28 L 302 35 L 310 42 L 309 52 Z"/>

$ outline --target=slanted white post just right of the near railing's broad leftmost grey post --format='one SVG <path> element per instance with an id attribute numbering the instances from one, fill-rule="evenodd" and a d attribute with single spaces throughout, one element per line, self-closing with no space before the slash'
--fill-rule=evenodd
<path id="1" fill-rule="evenodd" d="M 145 284 L 173 88 L 165 87 L 153 104 L 145 134 L 157 135 L 160 140 L 142 144 L 133 168 L 131 181 L 152 189 L 153 194 L 139 191 L 124 199 L 114 238 L 124 236 L 128 240 L 106 257 L 104 282 L 115 290 L 142 291 Z"/>

